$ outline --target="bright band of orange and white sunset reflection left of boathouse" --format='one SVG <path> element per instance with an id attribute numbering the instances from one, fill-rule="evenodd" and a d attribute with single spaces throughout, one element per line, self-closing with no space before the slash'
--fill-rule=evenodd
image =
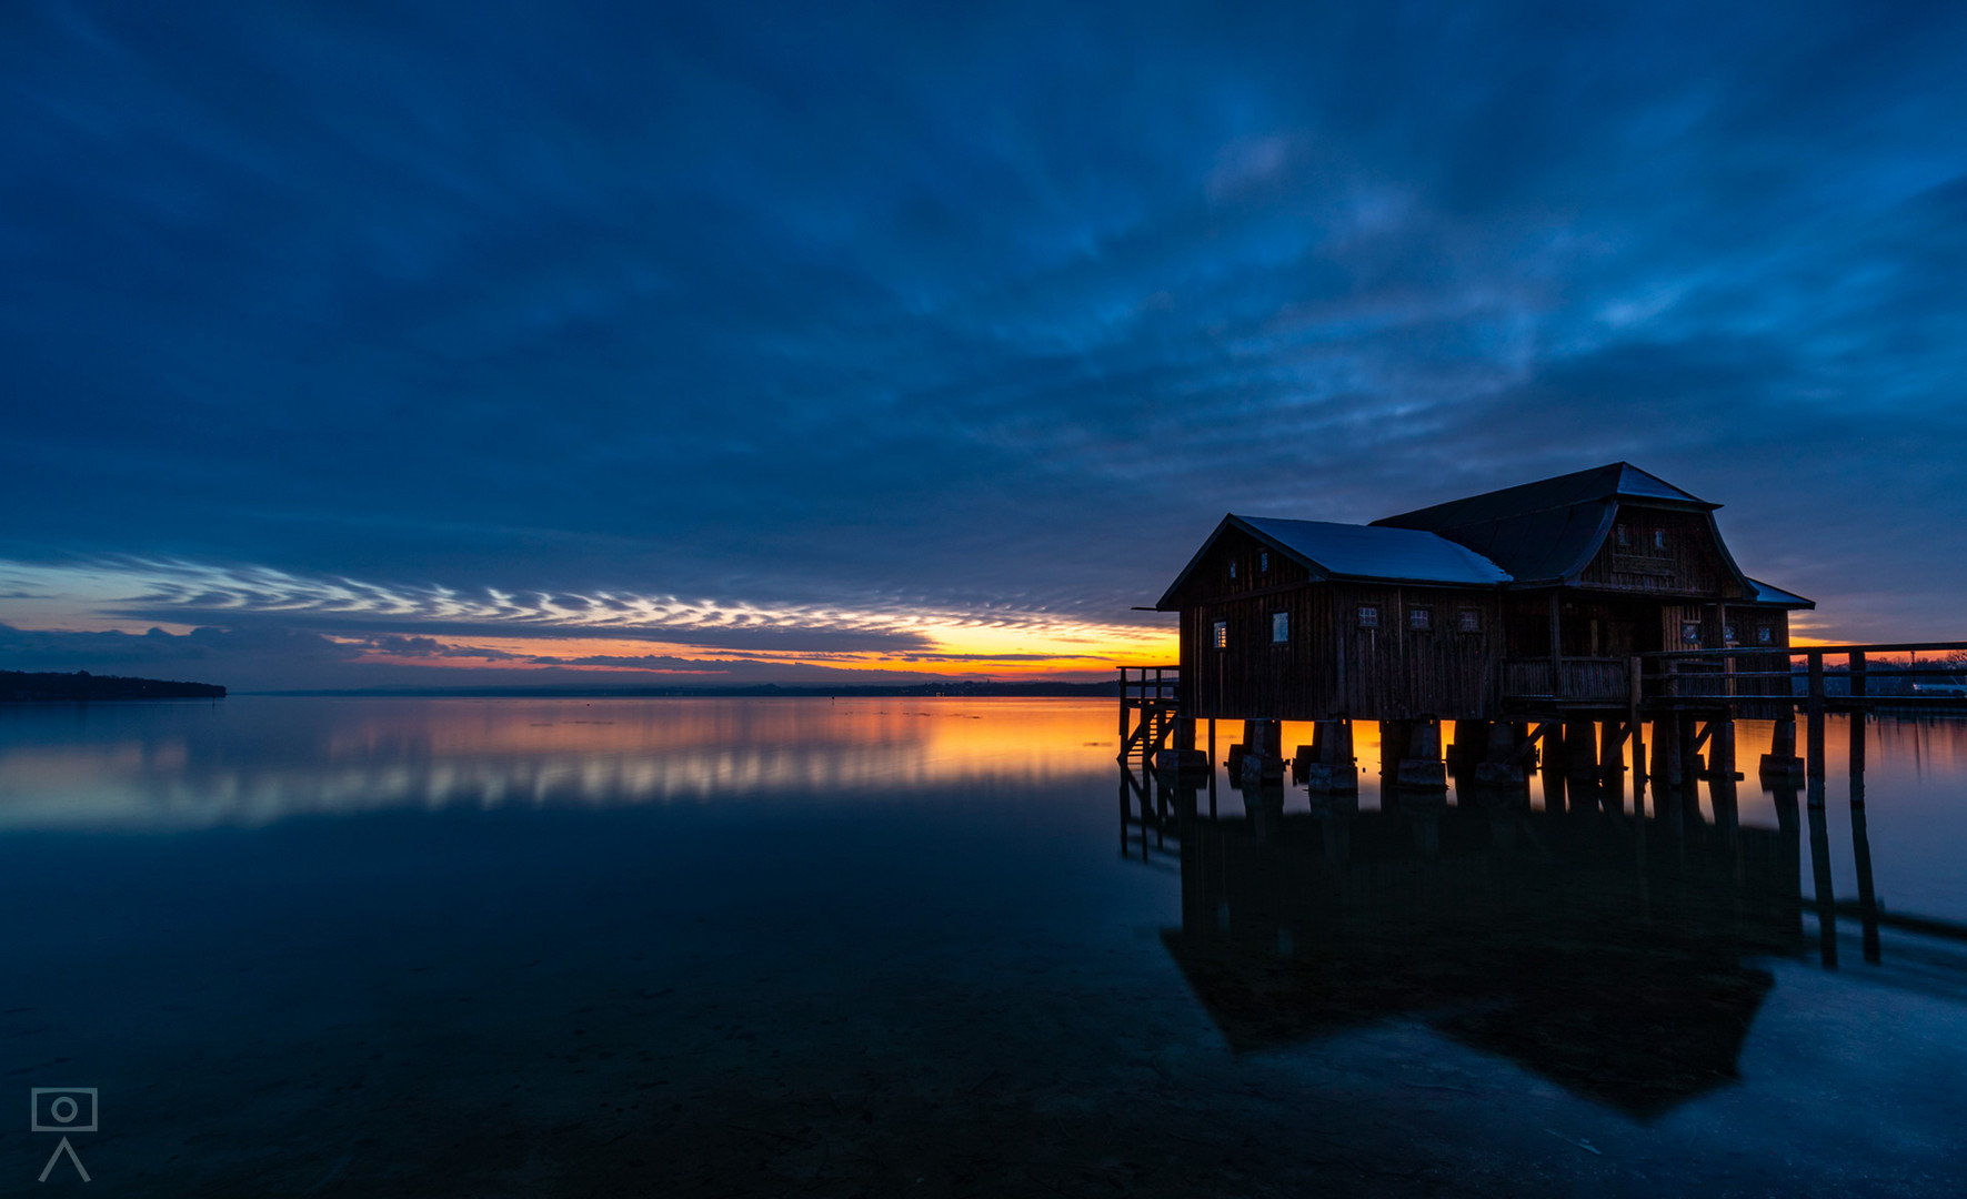
<path id="1" fill-rule="evenodd" d="M 1103 739 L 1100 739 L 1103 737 Z M 1037 784 L 1111 761 L 1072 700 L 273 700 L 0 708 L 0 829 Z"/>

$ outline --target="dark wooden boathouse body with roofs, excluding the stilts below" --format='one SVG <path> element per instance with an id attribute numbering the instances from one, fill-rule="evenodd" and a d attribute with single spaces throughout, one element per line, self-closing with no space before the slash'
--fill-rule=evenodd
<path id="1" fill-rule="evenodd" d="M 1180 710 L 1501 719 L 1625 706 L 1648 653 L 1768 647 L 1786 672 L 1814 603 L 1743 574 L 1717 507 L 1613 462 L 1371 525 L 1225 515 L 1155 605 L 1180 613 Z"/>

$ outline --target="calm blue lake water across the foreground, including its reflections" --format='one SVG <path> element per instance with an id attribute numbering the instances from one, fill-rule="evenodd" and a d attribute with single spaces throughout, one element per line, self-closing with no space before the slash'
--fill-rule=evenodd
<path id="1" fill-rule="evenodd" d="M 1959 1193 L 1967 723 L 1863 824 L 1766 741 L 1739 828 L 1373 743 L 1143 826 L 1107 702 L 0 710 L 6 1103 L 120 1195 Z"/>

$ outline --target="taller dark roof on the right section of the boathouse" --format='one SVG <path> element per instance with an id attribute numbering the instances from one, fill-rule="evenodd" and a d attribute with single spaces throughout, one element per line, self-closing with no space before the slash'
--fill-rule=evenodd
<path id="1" fill-rule="evenodd" d="M 1450 499 L 1375 525 L 1440 533 L 1491 558 L 1520 584 L 1576 576 L 1597 554 L 1621 501 L 1713 513 L 1719 503 L 1682 491 L 1631 462 Z M 1719 535 L 1715 544 L 1721 544 Z M 1723 546 L 1723 556 L 1727 548 Z M 1733 570 L 1733 562 L 1729 562 Z"/>

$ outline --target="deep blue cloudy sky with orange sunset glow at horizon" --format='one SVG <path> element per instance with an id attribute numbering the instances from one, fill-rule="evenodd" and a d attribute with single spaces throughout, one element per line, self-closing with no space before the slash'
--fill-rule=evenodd
<path id="1" fill-rule="evenodd" d="M 1967 637 L 1967 8 L 0 6 L 0 666 L 1111 678 L 1629 460 Z"/>

